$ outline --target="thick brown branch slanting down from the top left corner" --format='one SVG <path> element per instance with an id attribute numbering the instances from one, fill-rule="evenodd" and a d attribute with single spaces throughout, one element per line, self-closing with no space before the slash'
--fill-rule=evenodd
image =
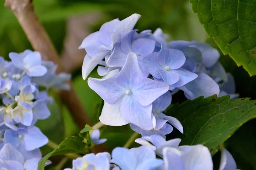
<path id="1" fill-rule="evenodd" d="M 65 72 L 47 32 L 44 30 L 35 14 L 32 0 L 6 0 L 5 6 L 11 9 L 15 14 L 31 45 L 36 51 L 41 53 L 42 58 L 58 64 L 58 73 Z M 67 105 L 67 108 L 70 110 L 70 113 L 80 129 L 82 129 L 85 124 L 92 125 L 71 82 L 69 82 L 69 84 L 71 86 L 70 91 L 59 92 L 61 100 Z"/>

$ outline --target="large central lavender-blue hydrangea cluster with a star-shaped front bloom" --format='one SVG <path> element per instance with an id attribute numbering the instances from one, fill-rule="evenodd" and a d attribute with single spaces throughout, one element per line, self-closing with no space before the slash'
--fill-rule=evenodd
<path id="1" fill-rule="evenodd" d="M 161 29 L 154 33 L 134 29 L 140 14 L 112 20 L 86 37 L 83 79 L 98 66 L 100 79 L 88 85 L 103 100 L 99 120 L 106 125 L 131 128 L 142 136 L 165 135 L 173 127 L 183 133 L 180 122 L 164 114 L 172 95 L 182 90 L 188 99 L 235 94 L 232 75 L 218 61 L 217 49 L 196 41 L 167 42 Z"/>

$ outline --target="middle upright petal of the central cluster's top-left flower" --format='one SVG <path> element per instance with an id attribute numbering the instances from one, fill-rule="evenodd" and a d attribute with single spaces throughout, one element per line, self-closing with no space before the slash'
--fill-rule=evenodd
<path id="1" fill-rule="evenodd" d="M 104 46 L 111 46 L 111 34 L 115 26 L 120 21 L 118 19 L 111 20 L 107 23 L 104 23 L 99 29 L 99 42 L 102 43 Z"/>

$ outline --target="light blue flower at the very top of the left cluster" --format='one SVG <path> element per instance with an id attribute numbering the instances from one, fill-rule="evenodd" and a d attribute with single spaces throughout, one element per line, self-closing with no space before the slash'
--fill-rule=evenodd
<path id="1" fill-rule="evenodd" d="M 22 69 L 28 76 L 42 76 L 47 72 L 45 66 L 41 65 L 41 55 L 39 52 L 26 50 L 22 53 L 10 52 L 9 57 L 12 63 Z"/>

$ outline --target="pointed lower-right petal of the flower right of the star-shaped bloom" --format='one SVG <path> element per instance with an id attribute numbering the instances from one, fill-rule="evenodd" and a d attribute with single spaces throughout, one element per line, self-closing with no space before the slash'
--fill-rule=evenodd
<path id="1" fill-rule="evenodd" d="M 183 68 L 171 70 L 171 72 L 174 74 L 177 74 L 180 77 L 180 79 L 179 79 L 179 81 L 177 81 L 177 83 L 172 84 L 172 86 L 174 86 L 174 87 L 184 86 L 185 84 L 195 80 L 198 77 L 197 74 L 189 72 Z"/>

